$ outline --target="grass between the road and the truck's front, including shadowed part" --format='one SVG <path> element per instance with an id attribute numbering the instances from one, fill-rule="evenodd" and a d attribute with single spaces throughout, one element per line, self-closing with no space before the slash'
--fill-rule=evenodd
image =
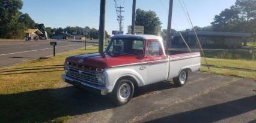
<path id="1" fill-rule="evenodd" d="M 62 64 L 68 56 L 85 53 L 82 49 L 0 69 L 0 122 L 69 119 L 70 109 L 62 94 L 69 88 L 60 77 Z M 97 47 L 88 47 L 86 52 L 96 53 Z"/>

